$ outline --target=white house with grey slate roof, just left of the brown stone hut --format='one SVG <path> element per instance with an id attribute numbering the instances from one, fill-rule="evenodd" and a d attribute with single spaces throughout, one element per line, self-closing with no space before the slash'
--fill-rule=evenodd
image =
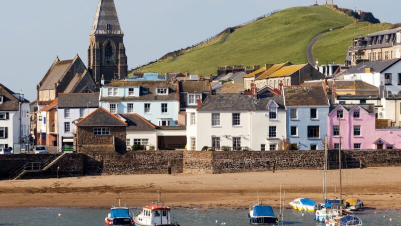
<path id="1" fill-rule="evenodd" d="M 76 134 L 75 123 L 99 107 L 99 93 L 59 93 L 58 97 L 58 147 L 73 150 Z"/>

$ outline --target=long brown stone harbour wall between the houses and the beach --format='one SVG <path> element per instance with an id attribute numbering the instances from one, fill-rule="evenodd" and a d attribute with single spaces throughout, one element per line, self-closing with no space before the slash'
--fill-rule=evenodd
<path id="1" fill-rule="evenodd" d="M 17 167 L 44 162 L 50 155 L 0 155 L 0 178 L 8 179 Z M 401 166 L 401 150 L 343 150 L 343 168 Z M 328 151 L 329 169 L 338 168 L 338 151 Z M 322 169 L 324 151 L 130 151 L 125 154 L 66 154 L 45 172 L 23 178 L 83 175 L 239 173 L 289 169 Z"/>

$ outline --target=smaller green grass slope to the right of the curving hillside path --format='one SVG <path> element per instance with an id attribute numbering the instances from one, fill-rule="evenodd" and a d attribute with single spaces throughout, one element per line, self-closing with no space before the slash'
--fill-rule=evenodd
<path id="1" fill-rule="evenodd" d="M 313 46 L 313 57 L 319 59 L 321 64 L 325 64 L 326 62 L 343 64 L 348 47 L 352 45 L 354 37 L 391 28 L 392 25 L 387 23 L 370 24 L 368 22 L 359 22 L 345 26 L 321 37 Z"/>

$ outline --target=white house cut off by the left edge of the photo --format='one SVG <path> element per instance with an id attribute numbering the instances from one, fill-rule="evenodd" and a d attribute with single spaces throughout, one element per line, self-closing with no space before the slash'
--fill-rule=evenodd
<path id="1" fill-rule="evenodd" d="M 29 101 L 0 84 L 0 148 L 12 148 L 18 153 L 21 139 L 30 136 Z"/>

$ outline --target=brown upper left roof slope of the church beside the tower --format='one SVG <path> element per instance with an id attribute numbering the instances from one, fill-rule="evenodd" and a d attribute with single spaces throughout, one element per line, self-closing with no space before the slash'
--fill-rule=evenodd
<path id="1" fill-rule="evenodd" d="M 57 83 L 67 72 L 74 60 L 59 60 L 49 69 L 45 75 L 43 83 L 39 87 L 39 90 L 55 89 L 54 84 Z"/>

